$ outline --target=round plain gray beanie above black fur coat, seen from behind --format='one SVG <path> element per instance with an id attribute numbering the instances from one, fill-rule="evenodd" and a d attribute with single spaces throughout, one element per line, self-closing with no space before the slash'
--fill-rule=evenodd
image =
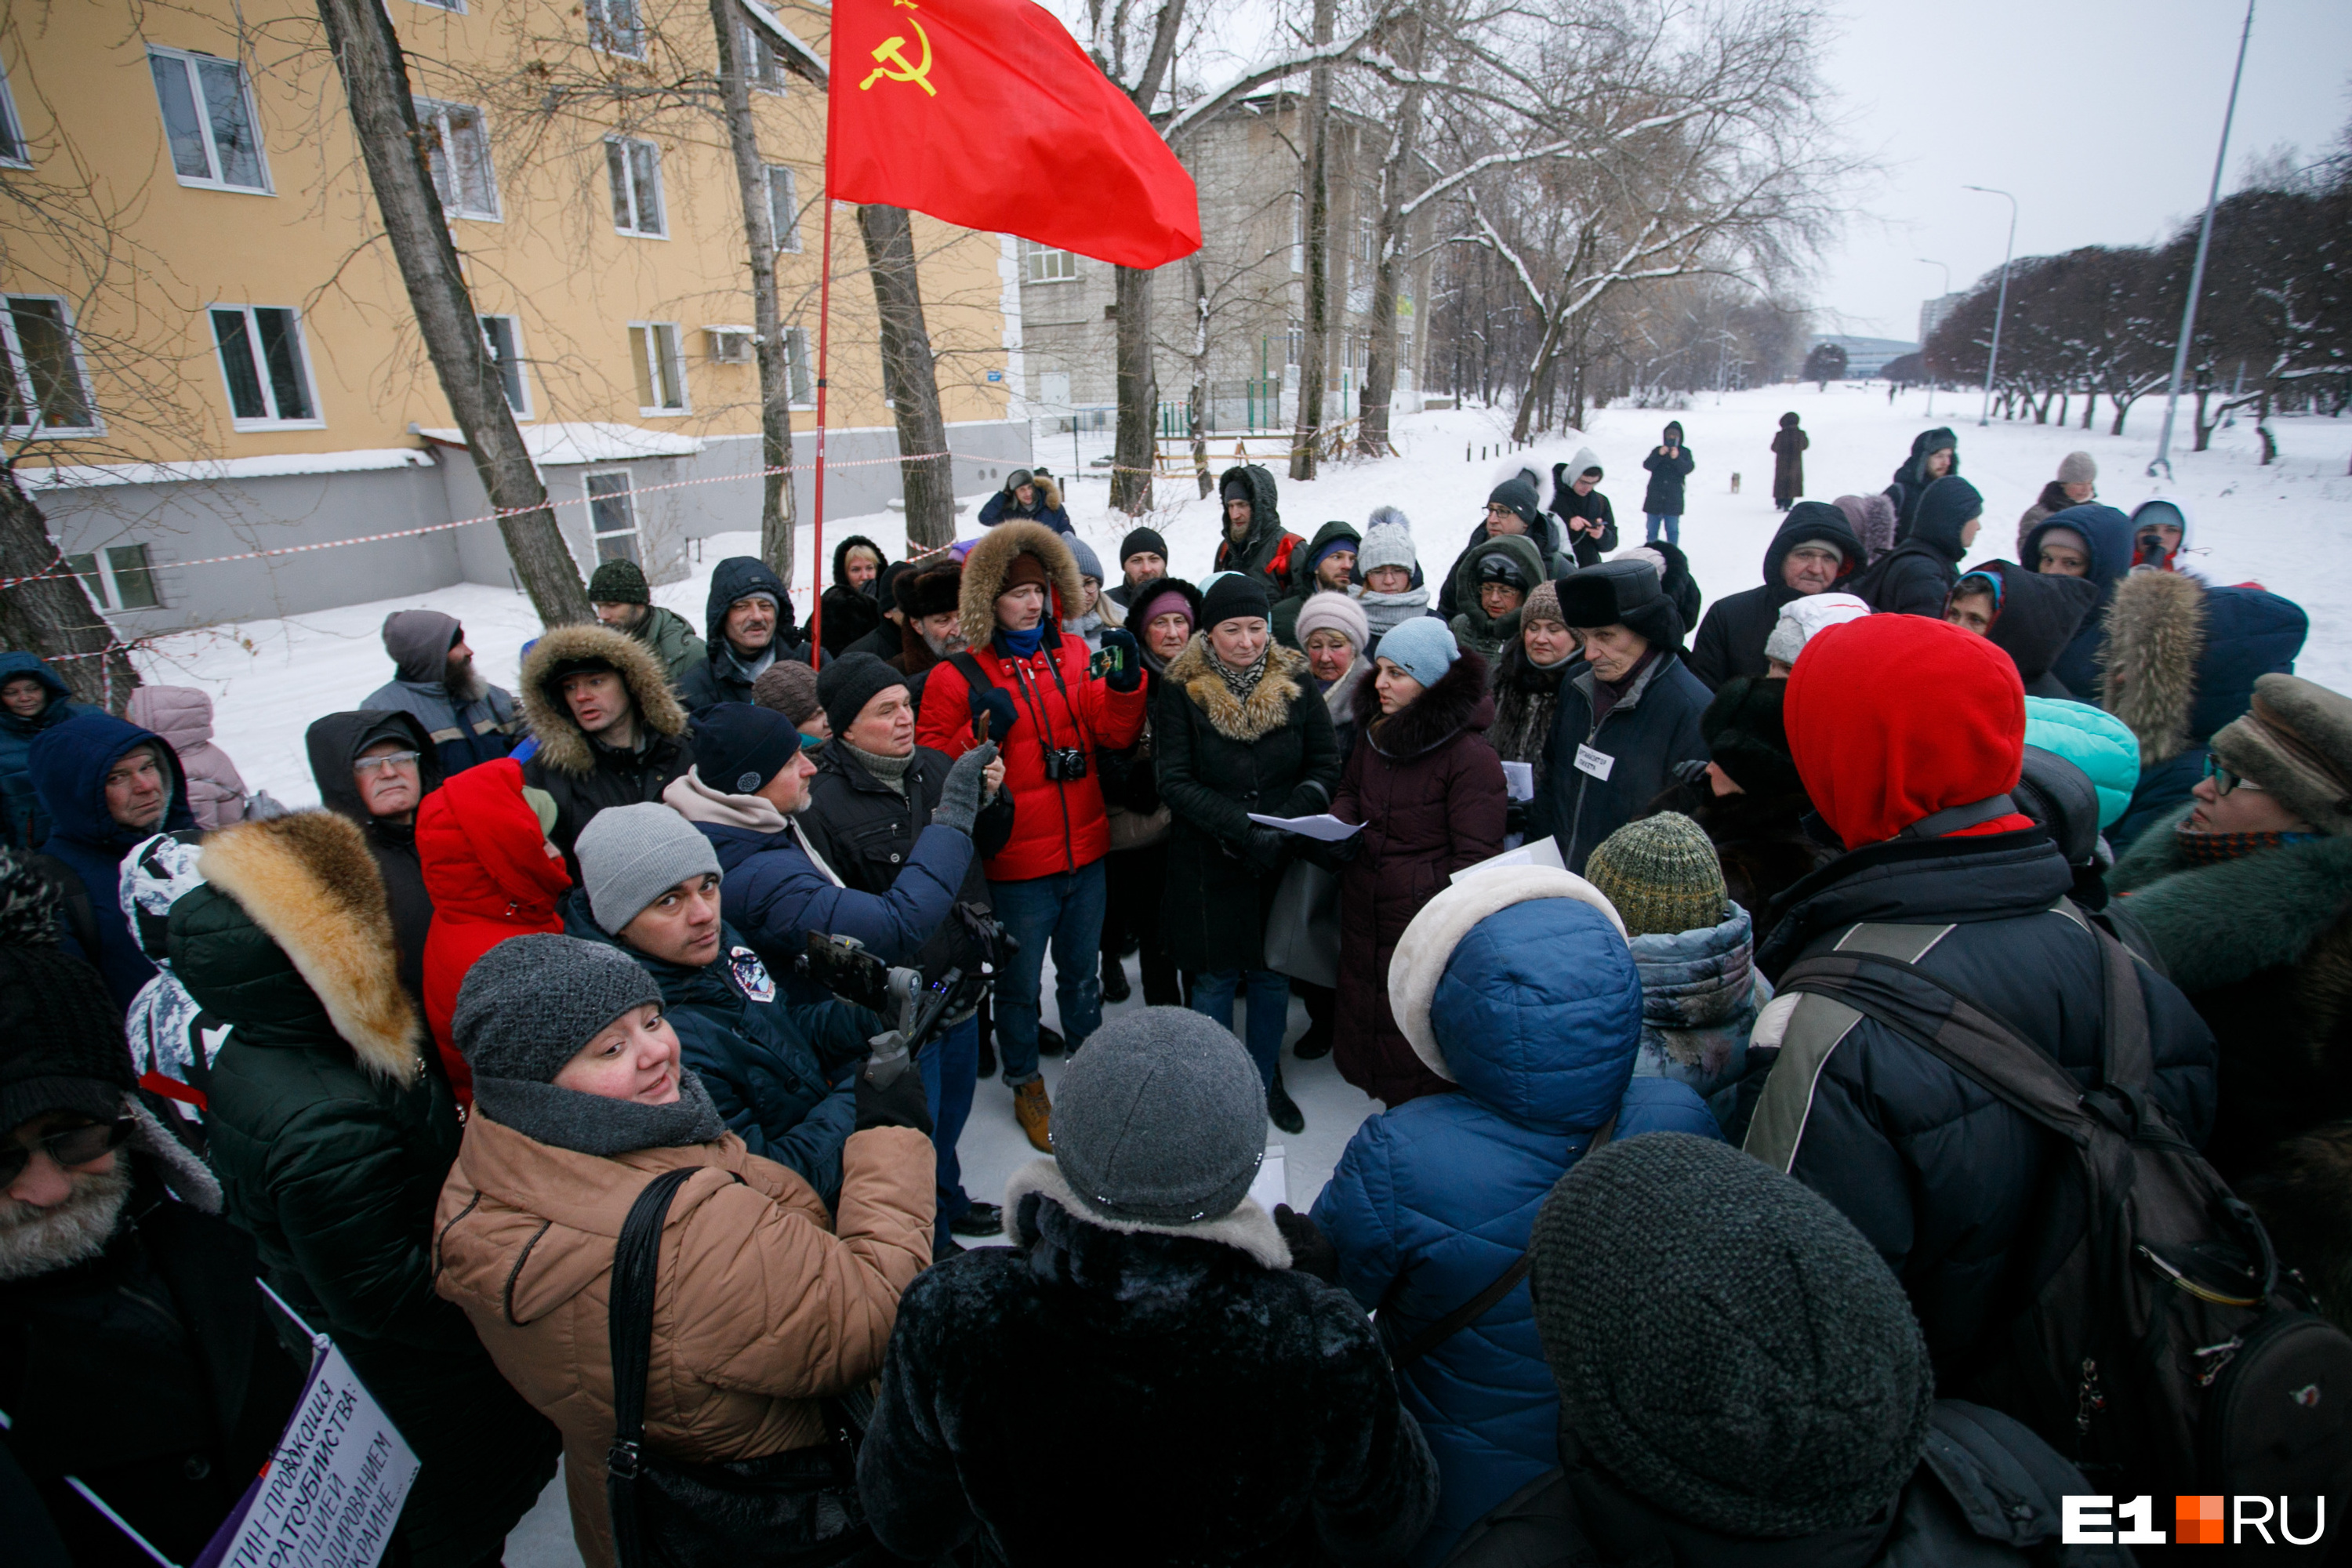
<path id="1" fill-rule="evenodd" d="M 1054 1157 L 1105 1220 L 1232 1213 L 1265 1159 L 1265 1086 L 1230 1030 L 1190 1009 L 1108 1020 L 1061 1070 Z"/>

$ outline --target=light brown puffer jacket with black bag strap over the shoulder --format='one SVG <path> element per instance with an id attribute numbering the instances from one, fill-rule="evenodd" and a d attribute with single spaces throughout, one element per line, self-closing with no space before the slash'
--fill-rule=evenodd
<path id="1" fill-rule="evenodd" d="M 492 1361 L 564 1434 L 572 1535 L 612 1568 L 612 1248 L 637 1192 L 708 1166 L 670 1201 L 644 1378 L 647 1448 L 755 1460 L 823 1439 L 814 1401 L 873 1380 L 898 1293 L 931 1262 L 931 1140 L 854 1133 L 842 1211 L 727 1133 L 602 1159 L 475 1114 L 442 1187 L 435 1286 Z M 741 1180 L 734 1180 L 741 1178 Z"/>

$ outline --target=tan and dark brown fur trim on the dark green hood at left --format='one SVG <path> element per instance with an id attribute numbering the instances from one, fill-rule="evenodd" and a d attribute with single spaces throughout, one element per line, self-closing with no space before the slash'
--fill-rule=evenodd
<path id="1" fill-rule="evenodd" d="M 416 1081 L 416 1009 L 400 990 L 383 872 L 358 823 L 334 811 L 238 823 L 205 839 L 195 870 L 278 943 L 362 1067 Z"/>

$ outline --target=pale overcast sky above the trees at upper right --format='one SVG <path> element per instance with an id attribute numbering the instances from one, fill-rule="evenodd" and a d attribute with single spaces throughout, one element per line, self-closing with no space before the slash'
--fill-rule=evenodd
<path id="1" fill-rule="evenodd" d="M 1886 176 L 1865 195 L 1813 303 L 1816 329 L 1915 339 L 1919 301 L 2018 254 L 2159 240 L 2204 207 L 2230 101 L 2239 0 L 1844 0 L 1828 78 Z M 2352 118 L 2352 2 L 2258 0 L 2230 134 L 2317 158 Z"/>

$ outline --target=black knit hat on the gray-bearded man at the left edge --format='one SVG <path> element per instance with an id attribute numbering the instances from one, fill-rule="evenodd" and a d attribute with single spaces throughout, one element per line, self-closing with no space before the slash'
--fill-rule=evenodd
<path id="1" fill-rule="evenodd" d="M 122 1009 L 56 938 L 56 884 L 0 849 L 0 1135 L 52 1110 L 99 1121 L 136 1086 Z"/>

